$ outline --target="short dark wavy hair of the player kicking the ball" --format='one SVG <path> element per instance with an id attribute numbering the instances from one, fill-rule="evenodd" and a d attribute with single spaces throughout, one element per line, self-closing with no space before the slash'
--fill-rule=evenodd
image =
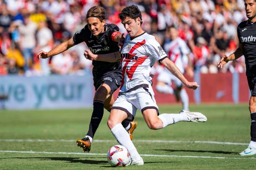
<path id="1" fill-rule="evenodd" d="M 136 5 L 131 5 L 129 7 L 125 7 L 120 14 L 118 14 L 118 17 L 123 21 L 126 19 L 126 17 L 129 17 L 131 19 L 136 20 L 138 17 L 140 17 L 140 24 L 142 24 L 142 16 L 140 13 L 140 9 Z"/>

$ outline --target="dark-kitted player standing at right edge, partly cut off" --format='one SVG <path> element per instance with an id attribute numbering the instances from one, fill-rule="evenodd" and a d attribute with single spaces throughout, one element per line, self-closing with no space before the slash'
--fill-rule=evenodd
<path id="1" fill-rule="evenodd" d="M 242 21 L 237 27 L 239 47 L 231 55 L 221 58 L 218 67 L 236 60 L 244 55 L 246 76 L 251 91 L 249 110 L 251 112 L 251 142 L 248 148 L 239 153 L 241 156 L 256 155 L 256 0 L 244 0 L 247 21 Z"/>

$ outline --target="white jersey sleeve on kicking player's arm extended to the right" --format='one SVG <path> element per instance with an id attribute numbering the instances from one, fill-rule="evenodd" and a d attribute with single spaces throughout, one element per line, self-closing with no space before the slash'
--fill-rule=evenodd
<path id="1" fill-rule="evenodd" d="M 164 49 L 161 47 L 161 45 L 156 41 L 154 38 L 149 39 L 149 45 L 148 45 L 149 54 L 158 60 L 158 62 L 161 62 L 164 58 L 167 58 L 167 55 L 164 51 Z"/>

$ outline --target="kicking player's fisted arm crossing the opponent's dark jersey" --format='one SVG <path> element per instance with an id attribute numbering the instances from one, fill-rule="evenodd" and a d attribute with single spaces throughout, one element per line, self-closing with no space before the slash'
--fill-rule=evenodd
<path id="1" fill-rule="evenodd" d="M 96 60 L 102 62 L 118 62 L 121 59 L 119 52 L 108 54 L 93 54 L 89 49 L 87 49 L 83 55 L 88 60 Z"/>

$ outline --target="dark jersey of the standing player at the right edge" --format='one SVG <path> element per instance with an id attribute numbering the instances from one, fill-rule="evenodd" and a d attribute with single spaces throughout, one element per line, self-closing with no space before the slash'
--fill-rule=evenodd
<path id="1" fill-rule="evenodd" d="M 239 43 L 243 45 L 246 62 L 246 75 L 256 74 L 256 22 L 249 20 L 241 22 L 237 27 Z"/>

